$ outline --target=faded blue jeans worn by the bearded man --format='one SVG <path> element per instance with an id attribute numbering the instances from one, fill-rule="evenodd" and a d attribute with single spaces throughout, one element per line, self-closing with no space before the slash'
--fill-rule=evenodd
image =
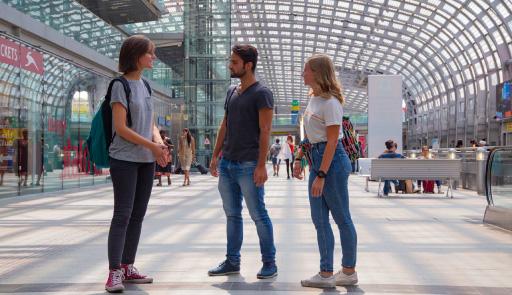
<path id="1" fill-rule="evenodd" d="M 263 186 L 254 183 L 256 161 L 238 162 L 227 159 L 219 163 L 219 192 L 227 218 L 227 254 L 234 265 L 240 265 L 240 249 L 243 241 L 242 199 L 249 209 L 260 239 L 263 262 L 274 262 L 276 248 L 272 221 L 265 209 Z"/>

